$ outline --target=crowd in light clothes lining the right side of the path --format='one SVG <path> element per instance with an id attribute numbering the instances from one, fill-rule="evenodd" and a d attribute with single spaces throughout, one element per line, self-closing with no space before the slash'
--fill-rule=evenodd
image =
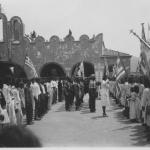
<path id="1" fill-rule="evenodd" d="M 149 78 L 129 76 L 120 82 L 110 81 L 110 87 L 110 93 L 116 99 L 116 103 L 124 108 L 124 115 L 131 122 L 141 123 L 150 131 Z"/>

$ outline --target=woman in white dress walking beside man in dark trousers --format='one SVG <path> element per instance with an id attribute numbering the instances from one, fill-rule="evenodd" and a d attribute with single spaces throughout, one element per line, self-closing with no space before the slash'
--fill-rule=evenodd
<path id="1" fill-rule="evenodd" d="M 100 94 L 101 94 L 101 106 L 102 106 L 102 110 L 103 110 L 103 116 L 105 117 L 105 116 L 107 116 L 106 107 L 110 106 L 109 90 L 108 90 L 108 85 L 105 81 L 102 82 Z"/>

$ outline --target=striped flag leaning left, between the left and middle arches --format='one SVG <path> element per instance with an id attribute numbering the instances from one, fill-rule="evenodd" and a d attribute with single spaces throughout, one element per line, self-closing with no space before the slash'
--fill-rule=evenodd
<path id="1" fill-rule="evenodd" d="M 35 67 L 33 65 L 33 62 L 31 61 L 31 59 L 27 55 L 25 57 L 25 65 L 28 66 L 31 69 L 32 78 L 37 78 L 38 74 L 37 74 L 36 69 L 35 69 Z"/>

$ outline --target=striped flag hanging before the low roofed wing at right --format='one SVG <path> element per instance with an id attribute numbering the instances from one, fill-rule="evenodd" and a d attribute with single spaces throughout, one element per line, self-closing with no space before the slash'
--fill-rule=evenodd
<path id="1" fill-rule="evenodd" d="M 116 80 L 119 80 L 125 74 L 126 74 L 126 69 L 118 53 L 117 64 L 116 64 Z"/>

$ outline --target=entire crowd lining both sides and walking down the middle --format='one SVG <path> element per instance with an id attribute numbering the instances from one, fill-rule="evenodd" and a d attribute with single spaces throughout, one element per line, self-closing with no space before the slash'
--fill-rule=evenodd
<path id="1" fill-rule="evenodd" d="M 150 131 L 150 80 L 146 76 L 128 76 L 119 81 L 96 82 L 95 76 L 63 80 L 32 79 L 0 81 L 0 124 L 1 126 L 33 124 L 51 110 L 52 105 L 65 101 L 65 110 L 75 106 L 80 111 L 85 95 L 88 94 L 90 112 L 96 112 L 96 99 L 101 100 L 103 117 L 110 106 L 110 96 L 123 107 L 123 114 L 131 122 L 141 123 Z M 149 139 L 150 140 L 150 139 Z"/>

